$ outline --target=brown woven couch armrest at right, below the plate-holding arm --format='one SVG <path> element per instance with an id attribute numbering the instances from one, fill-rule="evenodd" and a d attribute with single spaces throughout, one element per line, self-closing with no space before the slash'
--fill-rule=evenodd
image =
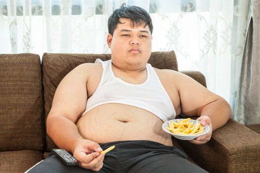
<path id="1" fill-rule="evenodd" d="M 185 152 L 210 173 L 259 173 L 260 134 L 230 119 L 211 139 L 196 145 L 178 142 Z"/>

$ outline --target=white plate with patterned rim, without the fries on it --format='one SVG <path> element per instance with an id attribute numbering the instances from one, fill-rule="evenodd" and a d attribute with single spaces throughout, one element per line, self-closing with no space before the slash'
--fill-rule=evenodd
<path id="1" fill-rule="evenodd" d="M 204 126 L 204 131 L 202 133 L 200 133 L 200 134 L 175 134 L 175 133 L 172 133 L 171 131 L 166 129 L 166 127 L 169 127 L 169 123 L 171 123 L 173 121 L 177 123 L 178 121 L 182 121 L 182 120 L 185 120 L 185 119 L 169 120 L 169 121 L 167 121 L 167 122 L 162 124 L 162 130 L 164 130 L 165 132 L 170 133 L 174 137 L 176 137 L 178 139 L 182 139 L 182 140 L 192 140 L 192 139 L 195 139 L 198 136 L 201 136 L 203 134 L 208 133 L 208 131 L 210 130 L 208 125 Z M 188 122 L 193 122 L 193 124 L 201 123 L 200 121 L 197 121 L 197 120 L 189 120 Z"/>

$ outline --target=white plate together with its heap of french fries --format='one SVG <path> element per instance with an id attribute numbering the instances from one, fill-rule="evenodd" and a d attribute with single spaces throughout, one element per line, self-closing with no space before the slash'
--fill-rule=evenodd
<path id="1" fill-rule="evenodd" d="M 208 133 L 209 126 L 202 126 L 200 121 L 187 119 L 169 120 L 162 124 L 162 129 L 182 140 L 192 140 Z"/>

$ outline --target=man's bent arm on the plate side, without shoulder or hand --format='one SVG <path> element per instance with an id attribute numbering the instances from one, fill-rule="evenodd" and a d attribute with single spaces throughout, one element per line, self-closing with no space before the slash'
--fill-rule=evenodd
<path id="1" fill-rule="evenodd" d="M 187 116 L 208 116 L 212 130 L 225 125 L 231 117 L 231 108 L 226 100 L 186 75 L 177 76 L 182 113 Z"/>

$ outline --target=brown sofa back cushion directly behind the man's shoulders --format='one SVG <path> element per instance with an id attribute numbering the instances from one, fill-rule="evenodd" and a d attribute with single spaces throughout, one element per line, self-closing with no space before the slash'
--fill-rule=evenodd
<path id="1" fill-rule="evenodd" d="M 111 59 L 110 54 L 62 54 L 44 53 L 42 59 L 43 87 L 44 87 L 44 107 L 45 121 L 52 107 L 52 99 L 60 81 L 71 70 L 82 63 L 94 63 L 97 58 L 102 60 Z M 174 51 L 152 52 L 148 61 L 153 67 L 158 69 L 171 69 L 178 71 L 178 64 Z M 47 151 L 51 151 L 56 145 L 46 134 Z"/>

